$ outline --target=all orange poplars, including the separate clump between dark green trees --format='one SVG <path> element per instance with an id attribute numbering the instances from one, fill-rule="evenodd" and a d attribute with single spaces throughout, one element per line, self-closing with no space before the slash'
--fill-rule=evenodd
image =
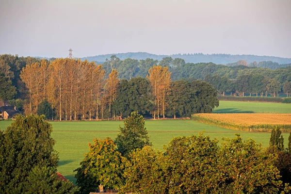
<path id="1" fill-rule="evenodd" d="M 150 68 L 148 73 L 154 118 L 156 115 L 158 118 L 160 115 L 164 117 L 171 73 L 167 67 L 161 66 Z M 28 90 L 25 114 L 37 113 L 40 103 L 47 100 L 51 106 L 52 120 L 103 119 L 105 112 L 110 117 L 120 81 L 115 69 L 106 78 L 102 65 L 67 58 L 56 59 L 50 64 L 42 60 L 26 65 L 20 78 Z"/>

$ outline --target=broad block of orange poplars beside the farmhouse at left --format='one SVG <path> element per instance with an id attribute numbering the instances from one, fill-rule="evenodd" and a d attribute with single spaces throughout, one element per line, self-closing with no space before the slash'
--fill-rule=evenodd
<path id="1" fill-rule="evenodd" d="M 45 60 L 27 65 L 20 74 L 29 91 L 25 113 L 36 113 L 47 99 L 59 120 L 98 118 L 104 76 L 101 65 L 88 61 L 61 58 L 49 65 Z"/>

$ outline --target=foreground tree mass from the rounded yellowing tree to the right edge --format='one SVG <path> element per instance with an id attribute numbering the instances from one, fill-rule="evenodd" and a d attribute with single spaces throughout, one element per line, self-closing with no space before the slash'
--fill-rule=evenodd
<path id="1" fill-rule="evenodd" d="M 81 193 L 95 191 L 98 185 L 143 194 L 291 191 L 291 147 L 284 150 L 279 129 L 272 132 L 267 149 L 251 139 L 243 141 L 239 134 L 223 139 L 221 145 L 199 134 L 174 138 L 161 152 L 149 145 L 146 136 L 143 144 L 134 140 L 136 133 L 144 134 L 141 119 L 132 113 L 116 140 L 95 139 L 89 145 L 90 151 L 76 170 Z"/>

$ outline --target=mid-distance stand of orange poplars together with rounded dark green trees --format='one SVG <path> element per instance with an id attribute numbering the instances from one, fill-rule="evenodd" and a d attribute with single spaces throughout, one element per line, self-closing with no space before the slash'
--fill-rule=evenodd
<path id="1" fill-rule="evenodd" d="M 28 89 L 25 113 L 45 114 L 51 120 L 115 118 L 128 116 L 132 111 L 154 118 L 165 115 L 176 118 L 211 113 L 219 105 L 210 84 L 172 82 L 167 67 L 151 67 L 147 79 L 129 81 L 120 81 L 115 69 L 107 79 L 105 73 L 94 62 L 72 59 L 26 65 L 20 74 Z"/>

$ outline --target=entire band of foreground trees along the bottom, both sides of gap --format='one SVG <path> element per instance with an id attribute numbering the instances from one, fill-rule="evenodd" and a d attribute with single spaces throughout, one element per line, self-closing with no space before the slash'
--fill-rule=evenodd
<path id="1" fill-rule="evenodd" d="M 56 175 L 58 162 L 51 125 L 43 117 L 18 116 L 0 130 L 0 193 L 95 192 L 99 185 L 119 193 L 290 193 L 291 134 L 288 148 L 280 129 L 270 146 L 255 141 L 211 140 L 204 134 L 176 137 L 153 149 L 143 116 L 133 112 L 113 141 L 95 139 L 76 169 L 78 186 Z"/>

